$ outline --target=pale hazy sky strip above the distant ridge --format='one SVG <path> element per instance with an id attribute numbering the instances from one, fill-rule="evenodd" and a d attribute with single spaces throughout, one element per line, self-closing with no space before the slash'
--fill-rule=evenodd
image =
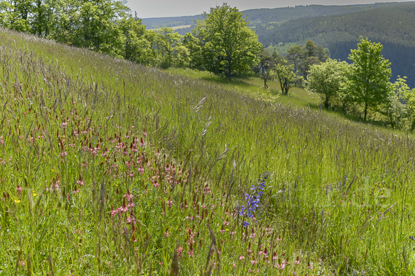
<path id="1" fill-rule="evenodd" d="M 407 1 L 407 0 L 405 0 Z M 228 0 L 226 3 L 239 10 L 249 10 L 254 8 L 282 8 L 293 7 L 296 5 L 353 5 L 375 3 L 368 0 Z M 380 1 L 378 1 L 380 2 Z M 404 2 L 404 1 L 397 1 Z M 137 11 L 140 18 L 149 17 L 181 17 L 184 15 L 196 15 L 208 12 L 210 7 L 221 6 L 223 1 L 216 0 L 128 0 L 127 6 L 131 8 L 133 14 Z"/>

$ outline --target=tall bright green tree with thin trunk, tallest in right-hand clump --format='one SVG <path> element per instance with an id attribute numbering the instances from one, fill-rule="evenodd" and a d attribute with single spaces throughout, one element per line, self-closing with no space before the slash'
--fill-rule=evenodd
<path id="1" fill-rule="evenodd" d="M 358 49 L 351 50 L 349 55 L 353 63 L 347 71 L 348 90 L 353 102 L 362 107 L 365 120 L 369 109 L 377 109 L 380 103 L 387 101 L 393 89 L 389 82 L 391 63 L 382 57 L 381 51 L 380 43 L 362 39 Z"/>

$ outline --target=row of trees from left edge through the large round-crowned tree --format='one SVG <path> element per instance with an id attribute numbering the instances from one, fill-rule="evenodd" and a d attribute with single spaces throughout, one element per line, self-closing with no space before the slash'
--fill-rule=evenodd
<path id="1" fill-rule="evenodd" d="M 184 36 L 171 28 L 147 30 L 114 0 L 8 0 L 0 25 L 145 66 L 197 68 L 226 77 L 250 71 L 261 49 L 237 8 L 217 6 Z"/>

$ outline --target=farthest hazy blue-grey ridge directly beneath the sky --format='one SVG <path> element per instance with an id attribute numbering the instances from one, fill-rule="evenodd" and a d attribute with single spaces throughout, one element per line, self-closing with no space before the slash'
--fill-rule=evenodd
<path id="1" fill-rule="evenodd" d="M 319 17 L 322 15 L 336 15 L 349 14 L 351 12 L 358 12 L 360 10 L 370 10 L 374 8 L 394 6 L 396 3 L 375 3 L 367 5 L 351 5 L 351 6 L 295 6 L 289 8 L 262 8 L 242 11 L 243 17 L 248 16 L 251 25 L 257 23 L 276 23 L 282 21 L 289 21 L 298 18 Z M 192 25 L 194 20 L 203 20 L 201 14 L 186 17 L 155 17 L 142 19 L 142 24 L 147 26 L 147 29 L 174 27 L 183 25 Z"/>

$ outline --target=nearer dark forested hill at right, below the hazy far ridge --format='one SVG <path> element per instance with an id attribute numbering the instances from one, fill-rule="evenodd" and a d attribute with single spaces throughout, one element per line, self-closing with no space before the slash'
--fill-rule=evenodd
<path id="1" fill-rule="evenodd" d="M 264 46 L 299 43 L 307 39 L 329 48 L 334 59 L 347 60 L 360 37 L 383 45 L 382 55 L 391 61 L 392 80 L 407 76 L 415 87 L 415 2 L 344 14 L 295 19 L 279 25 L 257 26 Z M 282 44 L 279 44 L 282 45 Z"/>

